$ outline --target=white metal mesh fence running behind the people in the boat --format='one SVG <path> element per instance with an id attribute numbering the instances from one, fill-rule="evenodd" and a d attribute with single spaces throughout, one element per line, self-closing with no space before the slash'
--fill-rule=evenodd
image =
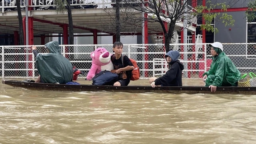
<path id="1" fill-rule="evenodd" d="M 112 44 L 98 45 L 60 45 L 63 56 L 66 56 L 73 66 L 85 74 L 91 68 L 90 53 L 95 48 L 104 47 L 112 53 Z M 202 78 L 202 74 L 210 68 L 211 55 L 208 44 L 171 44 L 180 51 L 180 61 L 184 64 L 184 78 Z M 256 72 L 255 44 L 223 44 L 224 52 L 234 62 L 242 74 Z M 2 60 L 0 74 L 2 78 L 36 78 L 38 71 L 34 55 L 29 46 L 1 46 Z M 46 53 L 44 46 L 37 46 L 38 52 Z M 184 49 L 186 49 L 184 52 Z M 199 50 L 196 50 L 199 48 Z M 124 44 L 123 54 L 136 60 L 141 78 L 161 76 L 166 71 L 164 61 L 164 44 Z M 162 59 L 162 62 L 161 62 Z M 161 64 L 157 64 L 157 62 Z M 84 78 L 82 75 L 79 78 Z"/>

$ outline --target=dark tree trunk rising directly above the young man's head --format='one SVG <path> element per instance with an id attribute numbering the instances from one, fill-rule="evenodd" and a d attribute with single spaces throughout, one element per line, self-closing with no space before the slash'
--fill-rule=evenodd
<path id="1" fill-rule="evenodd" d="M 120 0 L 116 0 L 116 42 L 120 42 L 120 32 L 121 32 L 121 23 L 120 23 Z"/>

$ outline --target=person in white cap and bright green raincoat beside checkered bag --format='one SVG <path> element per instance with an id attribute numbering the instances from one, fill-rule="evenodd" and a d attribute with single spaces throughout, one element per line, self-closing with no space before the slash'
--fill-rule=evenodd
<path id="1" fill-rule="evenodd" d="M 211 92 L 216 92 L 216 88 L 220 86 L 237 86 L 241 73 L 223 52 L 222 44 L 214 42 L 210 47 L 212 64 L 210 70 L 203 74 L 205 86 L 209 86 Z"/>

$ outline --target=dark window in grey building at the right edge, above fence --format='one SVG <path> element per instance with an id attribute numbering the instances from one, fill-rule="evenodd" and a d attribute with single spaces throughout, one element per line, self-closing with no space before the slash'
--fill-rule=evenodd
<path id="1" fill-rule="evenodd" d="M 247 23 L 247 58 L 256 58 L 256 19 Z"/>

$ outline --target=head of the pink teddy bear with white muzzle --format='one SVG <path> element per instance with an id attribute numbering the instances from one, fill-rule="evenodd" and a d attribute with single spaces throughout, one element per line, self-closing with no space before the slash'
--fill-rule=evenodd
<path id="1" fill-rule="evenodd" d="M 108 52 L 105 48 L 97 48 L 91 54 L 91 58 L 98 65 L 105 65 L 110 62 L 110 52 Z"/>

